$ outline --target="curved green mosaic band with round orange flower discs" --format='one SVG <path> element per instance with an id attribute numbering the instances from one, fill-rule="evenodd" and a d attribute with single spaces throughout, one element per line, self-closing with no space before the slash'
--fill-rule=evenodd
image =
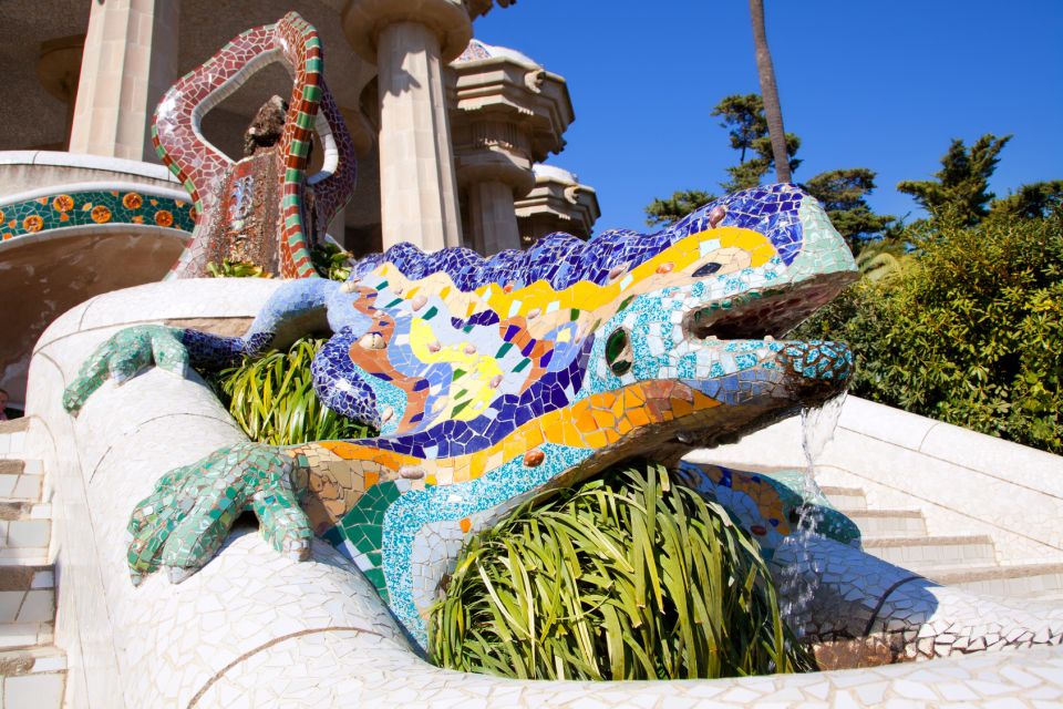
<path id="1" fill-rule="evenodd" d="M 188 232 L 196 226 L 185 199 L 141 192 L 59 192 L 34 199 L 0 204 L 0 238 L 72 226 L 146 224 Z"/>

